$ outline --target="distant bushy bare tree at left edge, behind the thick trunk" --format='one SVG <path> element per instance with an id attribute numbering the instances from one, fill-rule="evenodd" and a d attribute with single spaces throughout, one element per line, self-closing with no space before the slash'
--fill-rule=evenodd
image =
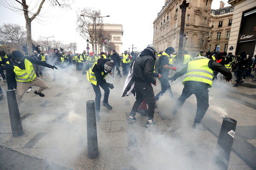
<path id="1" fill-rule="evenodd" d="M 0 27 L 0 41 L 11 43 L 20 50 L 21 45 L 26 41 L 26 31 L 18 24 L 6 24 Z"/>

